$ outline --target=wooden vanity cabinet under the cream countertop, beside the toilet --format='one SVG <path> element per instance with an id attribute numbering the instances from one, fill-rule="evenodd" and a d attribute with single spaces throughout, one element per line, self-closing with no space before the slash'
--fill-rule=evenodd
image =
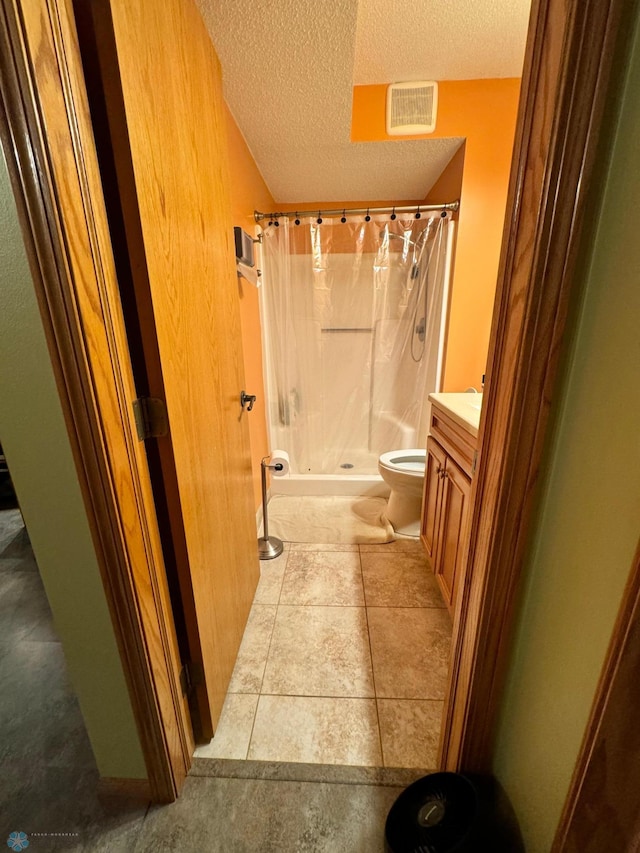
<path id="1" fill-rule="evenodd" d="M 464 557 L 475 438 L 433 409 L 427 439 L 421 540 L 453 613 Z"/>

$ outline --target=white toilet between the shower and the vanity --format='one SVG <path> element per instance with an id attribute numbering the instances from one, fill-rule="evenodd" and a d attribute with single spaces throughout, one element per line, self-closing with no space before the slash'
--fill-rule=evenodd
<path id="1" fill-rule="evenodd" d="M 378 459 L 378 471 L 391 489 L 386 516 L 396 533 L 420 535 L 420 512 L 427 451 L 390 450 Z"/>

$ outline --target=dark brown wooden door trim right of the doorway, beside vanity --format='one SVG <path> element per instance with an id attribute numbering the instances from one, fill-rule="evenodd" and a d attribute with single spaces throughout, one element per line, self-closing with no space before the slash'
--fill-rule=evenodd
<path id="1" fill-rule="evenodd" d="M 534 0 L 440 766 L 491 770 L 587 192 L 626 0 Z"/>

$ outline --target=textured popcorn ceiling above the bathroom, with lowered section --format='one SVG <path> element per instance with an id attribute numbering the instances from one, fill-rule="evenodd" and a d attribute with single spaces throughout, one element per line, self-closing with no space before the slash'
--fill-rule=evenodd
<path id="1" fill-rule="evenodd" d="M 501 18 L 517 18 L 511 14 L 516 6 L 526 5 L 528 14 L 529 0 L 385 0 L 384 7 L 382 0 L 197 3 L 220 57 L 227 103 L 271 194 L 276 202 L 302 203 L 424 198 L 461 140 L 351 143 L 354 73 L 368 83 L 519 76 L 526 15 L 519 33 L 503 28 L 498 36 L 495 29 Z M 444 53 L 455 60 L 449 67 L 440 62 L 438 74 L 429 53 L 417 47 L 439 41 L 434 17 L 443 28 Z M 493 30 L 474 31 L 479 22 L 493 22 Z M 458 30 L 460 47 L 452 41 Z M 502 66 L 509 70 L 498 73 L 494 60 L 505 39 L 512 58 Z M 467 55 L 470 40 L 473 67 L 457 55 Z M 374 67 L 380 69 L 375 79 L 365 79 Z"/>

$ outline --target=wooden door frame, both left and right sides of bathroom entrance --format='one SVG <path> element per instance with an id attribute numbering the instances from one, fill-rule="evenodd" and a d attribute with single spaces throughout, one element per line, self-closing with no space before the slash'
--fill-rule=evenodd
<path id="1" fill-rule="evenodd" d="M 77 44 L 73 46 L 69 3 L 42 0 L 43 18 L 48 16 L 54 33 L 48 59 L 57 75 L 51 67 L 45 69 L 50 78 L 46 91 L 38 88 L 43 70 L 30 61 L 26 48 L 33 36 L 24 14 L 27 5 L 24 0 L 2 1 L 0 134 L 152 793 L 157 800 L 169 801 L 191 761 L 189 720 L 179 701 L 175 630 L 159 545 L 155 551 L 147 549 L 146 566 L 134 565 L 121 499 L 114 489 L 113 454 L 120 452 L 125 456 L 123 475 L 128 471 L 137 484 L 136 524 L 145 531 L 145 541 L 156 542 L 145 463 L 132 438 L 131 389 L 122 382 L 130 365 L 123 342 L 112 334 L 120 309 L 113 264 L 104 257 L 110 247 L 108 236 L 104 241 L 107 223 L 81 92 L 82 69 Z M 533 0 L 472 483 L 466 571 L 454 618 L 440 744 L 443 769 L 491 768 L 561 343 L 570 304 L 578 295 L 573 272 L 587 187 L 604 129 L 620 25 L 630 5 L 628 0 Z M 74 223 L 65 218 L 65 199 L 52 175 L 56 140 L 42 127 L 42 99 L 47 97 L 61 98 L 64 104 L 59 129 L 73 152 L 80 184 L 77 199 L 85 213 L 84 233 L 75 236 L 88 240 L 90 248 L 95 248 L 94 232 L 103 238 L 102 254 L 91 253 L 93 273 L 86 268 L 84 281 L 68 251 L 65 229 Z M 99 365 L 87 351 L 83 286 L 102 299 L 103 327 L 93 332 L 112 368 L 109 378 L 118 392 L 126 452 L 118 451 L 117 436 L 105 435 L 102 407 L 109 402 L 108 392 L 100 383 L 96 386 Z"/>

